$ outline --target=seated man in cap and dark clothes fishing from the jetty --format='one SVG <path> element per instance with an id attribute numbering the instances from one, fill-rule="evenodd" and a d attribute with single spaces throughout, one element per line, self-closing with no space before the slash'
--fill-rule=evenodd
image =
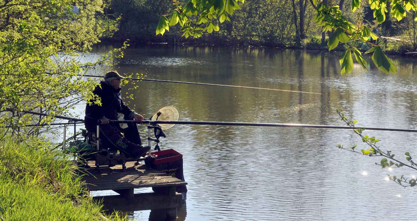
<path id="1" fill-rule="evenodd" d="M 104 80 L 93 90 L 95 95 L 101 98 L 101 105 L 94 104 L 90 100 L 85 107 L 85 128 L 87 131 L 95 131 L 97 122 L 100 121 L 101 143 L 108 147 L 118 148 L 130 157 L 138 159 L 146 155 L 150 147 L 143 147 L 136 123 L 114 124 L 109 120 L 135 120 L 143 121 L 143 116 L 132 111 L 123 103 L 120 94 L 120 80 L 124 78 L 117 71 L 106 73 Z M 123 135 L 122 135 L 123 133 Z"/>

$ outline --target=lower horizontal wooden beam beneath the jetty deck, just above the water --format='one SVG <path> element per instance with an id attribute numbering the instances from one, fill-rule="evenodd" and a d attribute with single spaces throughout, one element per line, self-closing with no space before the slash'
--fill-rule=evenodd
<path id="1" fill-rule="evenodd" d="M 118 211 L 139 211 L 150 209 L 177 208 L 181 206 L 182 194 L 168 196 L 158 193 L 136 193 L 131 200 L 123 196 L 95 196 L 94 201 L 103 200 L 103 208 Z"/>

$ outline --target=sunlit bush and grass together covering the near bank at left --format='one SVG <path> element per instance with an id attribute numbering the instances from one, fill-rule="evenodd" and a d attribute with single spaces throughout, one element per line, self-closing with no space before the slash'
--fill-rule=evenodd
<path id="1" fill-rule="evenodd" d="M 90 89 L 97 83 L 80 75 L 122 55 L 115 49 L 94 63 L 82 60 L 83 53 L 116 28 L 104 7 L 101 0 L 0 3 L 2 220 L 106 220 L 82 187 L 73 162 L 51 148 L 54 136 L 42 136 L 52 128 L 20 128 L 68 116 L 73 105 L 93 98 Z M 119 219 L 117 214 L 111 218 Z"/>

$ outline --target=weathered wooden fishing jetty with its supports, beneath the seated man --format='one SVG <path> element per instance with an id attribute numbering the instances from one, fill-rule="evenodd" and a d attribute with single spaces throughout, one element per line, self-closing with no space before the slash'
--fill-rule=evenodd
<path id="1" fill-rule="evenodd" d="M 95 169 L 95 161 L 89 161 L 91 168 L 83 170 L 82 179 L 89 191 L 113 190 L 120 195 L 95 196 L 93 200 L 103 203 L 106 210 L 139 211 L 158 210 L 166 215 L 166 219 L 176 219 L 177 208 L 181 207 L 182 194 L 176 192 L 176 186 L 186 185 L 185 181 L 177 179 L 154 169 L 146 170 L 144 164 L 134 165 L 126 162 L 122 166 Z M 133 188 L 152 187 L 153 193 L 133 193 Z"/>

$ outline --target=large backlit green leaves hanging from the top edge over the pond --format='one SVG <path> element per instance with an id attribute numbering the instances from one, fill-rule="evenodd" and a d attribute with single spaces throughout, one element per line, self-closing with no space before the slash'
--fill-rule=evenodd
<path id="1" fill-rule="evenodd" d="M 160 18 L 160 22 L 156 28 L 156 34 L 165 33 L 165 30 L 169 30 L 169 26 L 181 25 L 182 36 L 188 38 L 193 36 L 194 38 L 201 37 L 204 32 L 212 33 L 213 31 L 219 31 L 218 23 L 223 23 L 228 17 L 234 14 L 234 10 L 239 10 L 241 7 L 238 2 L 243 0 L 213 0 L 213 1 L 201 1 L 201 0 L 189 0 L 180 5 L 177 0 L 174 0 L 174 8 L 171 12 L 171 18 L 168 19 L 163 15 Z M 373 11 L 374 18 L 383 23 L 386 20 L 387 8 L 390 6 L 390 14 L 402 20 L 406 16 L 406 12 L 416 11 L 417 7 L 415 0 L 392 0 L 389 3 L 388 0 L 368 0 L 371 10 Z M 362 24 L 362 21 L 358 18 L 357 25 L 354 25 L 347 18 L 344 17 L 342 11 L 339 9 L 339 5 L 329 6 L 324 2 L 311 0 L 311 5 L 316 9 L 316 17 L 314 20 L 322 26 L 323 32 L 333 31 L 328 41 L 328 48 L 332 50 L 339 45 L 339 43 L 345 43 L 348 45 L 348 49 L 345 51 L 343 58 L 341 59 L 342 70 L 341 73 L 349 74 L 353 70 L 352 54 L 362 68 L 366 69 L 364 59 L 358 50 L 352 49 L 352 43 L 356 39 L 361 40 L 364 43 L 368 43 L 373 47 L 380 48 L 379 45 L 368 41 L 368 37 L 371 36 L 373 40 L 377 40 L 378 36 L 372 33 L 366 25 Z M 352 0 L 351 10 L 354 12 L 362 5 L 362 0 Z M 301 6 L 300 6 L 301 7 Z M 295 8 L 293 8 L 295 11 Z M 268 12 L 266 12 L 268 13 Z M 296 19 L 296 15 L 294 12 Z M 301 18 L 301 17 L 300 17 Z M 172 22 L 171 22 L 172 21 Z M 246 21 L 244 21 L 246 22 Z M 304 28 L 304 27 L 303 27 Z M 243 30 L 239 30 L 241 33 Z M 230 34 L 230 33 L 229 33 Z M 372 61 L 375 65 L 386 73 L 396 73 L 395 65 L 391 60 L 382 52 L 382 50 L 372 50 Z"/>

